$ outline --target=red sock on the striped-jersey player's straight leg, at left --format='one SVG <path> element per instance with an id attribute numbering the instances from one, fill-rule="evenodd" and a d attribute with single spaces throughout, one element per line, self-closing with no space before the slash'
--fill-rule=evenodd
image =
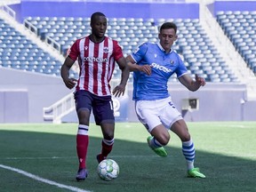
<path id="1" fill-rule="evenodd" d="M 79 169 L 86 168 L 86 155 L 89 144 L 88 135 L 76 135 L 76 153 L 79 160 Z"/>

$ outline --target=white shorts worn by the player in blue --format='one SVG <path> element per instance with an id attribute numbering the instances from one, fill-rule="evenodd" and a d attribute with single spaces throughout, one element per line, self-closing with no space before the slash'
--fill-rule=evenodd
<path id="1" fill-rule="evenodd" d="M 163 100 L 138 100 L 135 102 L 136 114 L 142 124 L 151 132 L 157 125 L 163 124 L 170 129 L 172 124 L 183 119 L 172 103 L 171 97 Z"/>

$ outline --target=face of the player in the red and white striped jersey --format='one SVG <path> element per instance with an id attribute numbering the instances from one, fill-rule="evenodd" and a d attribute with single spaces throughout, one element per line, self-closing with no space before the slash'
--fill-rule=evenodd
<path id="1" fill-rule="evenodd" d="M 104 16 L 96 16 L 94 20 L 92 20 L 92 35 L 97 39 L 101 39 L 105 36 L 105 32 L 107 30 L 107 19 Z"/>

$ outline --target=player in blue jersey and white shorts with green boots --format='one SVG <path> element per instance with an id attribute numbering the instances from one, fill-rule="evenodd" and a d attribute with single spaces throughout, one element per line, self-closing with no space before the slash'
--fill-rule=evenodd
<path id="1" fill-rule="evenodd" d="M 196 75 L 194 80 L 189 74 L 172 44 L 178 38 L 177 26 L 165 22 L 158 34 L 159 43 L 141 44 L 126 60 L 133 71 L 133 96 L 136 114 L 151 136 L 148 146 L 158 156 L 167 156 L 164 148 L 170 140 L 169 130 L 176 133 L 182 142 L 182 152 L 188 166 L 188 177 L 205 178 L 199 168 L 194 167 L 195 147 L 180 112 L 172 103 L 167 82 L 175 73 L 181 84 L 195 92 L 204 86 L 204 78 Z"/>

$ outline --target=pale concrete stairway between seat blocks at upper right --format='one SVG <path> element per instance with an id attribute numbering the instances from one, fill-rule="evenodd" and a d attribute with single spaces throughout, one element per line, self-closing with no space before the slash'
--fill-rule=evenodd
<path id="1" fill-rule="evenodd" d="M 217 20 L 212 16 L 206 4 L 200 4 L 200 23 L 222 58 L 232 68 L 239 82 L 247 86 L 247 99 L 256 100 L 256 76 L 248 68 L 242 56 L 236 52 L 235 46 L 230 42 L 228 36 L 224 34 Z"/>

